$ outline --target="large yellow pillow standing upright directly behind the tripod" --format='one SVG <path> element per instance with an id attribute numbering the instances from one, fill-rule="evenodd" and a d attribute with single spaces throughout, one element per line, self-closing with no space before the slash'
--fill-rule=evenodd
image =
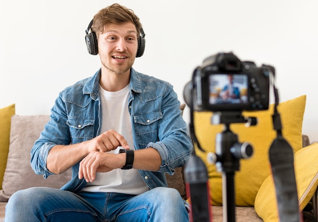
<path id="1" fill-rule="evenodd" d="M 294 153 L 302 148 L 302 122 L 305 111 L 306 95 L 278 105 L 283 136 L 293 147 Z M 268 110 L 243 112 L 246 117 L 258 118 L 256 126 L 245 127 L 243 123 L 230 125 L 240 142 L 249 142 L 253 147 L 253 155 L 247 160 L 240 160 L 240 170 L 235 172 L 235 200 L 237 206 L 253 206 L 255 197 L 263 181 L 271 174 L 268 150 L 276 137 L 273 130 L 273 104 Z M 215 152 L 215 136 L 223 131 L 224 125 L 211 124 L 211 112 L 195 112 L 195 130 L 204 150 Z M 196 153 L 206 163 L 207 152 L 196 148 Z M 221 173 L 214 165 L 207 164 L 209 172 L 210 195 L 212 204 L 222 205 Z"/>

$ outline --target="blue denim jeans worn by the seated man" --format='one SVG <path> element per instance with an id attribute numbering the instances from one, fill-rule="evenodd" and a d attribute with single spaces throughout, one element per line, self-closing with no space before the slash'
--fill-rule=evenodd
<path id="1" fill-rule="evenodd" d="M 188 221 L 188 204 L 173 188 L 156 187 L 141 195 L 74 194 L 48 187 L 16 192 L 6 206 L 7 222 L 36 221 Z"/>

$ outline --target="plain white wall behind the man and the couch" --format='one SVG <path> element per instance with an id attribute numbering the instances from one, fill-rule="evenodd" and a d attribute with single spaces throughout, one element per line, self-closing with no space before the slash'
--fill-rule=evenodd
<path id="1" fill-rule="evenodd" d="M 318 1 L 117 1 L 133 9 L 146 33 L 134 68 L 183 87 L 202 60 L 233 51 L 276 68 L 280 101 L 307 95 L 303 133 L 318 140 Z M 114 1 L 1 0 L 0 107 L 19 115 L 49 114 L 60 90 L 100 67 L 84 30 Z M 188 116 L 188 110 L 185 118 Z"/>

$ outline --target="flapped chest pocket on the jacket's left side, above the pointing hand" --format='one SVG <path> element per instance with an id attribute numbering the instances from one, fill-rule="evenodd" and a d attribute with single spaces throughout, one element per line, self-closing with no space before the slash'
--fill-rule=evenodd
<path id="1" fill-rule="evenodd" d="M 69 118 L 67 124 L 73 141 L 89 140 L 94 137 L 94 119 Z"/>

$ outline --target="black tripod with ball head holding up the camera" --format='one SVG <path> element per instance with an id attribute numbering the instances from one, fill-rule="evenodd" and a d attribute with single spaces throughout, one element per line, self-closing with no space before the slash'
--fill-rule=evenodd
<path id="1" fill-rule="evenodd" d="M 224 123 L 225 126 L 224 131 L 216 135 L 215 154 L 210 153 L 210 161 L 215 163 L 219 172 L 222 172 L 223 220 L 235 222 L 234 174 L 240 169 L 239 160 L 249 158 L 253 148 L 247 142 L 239 143 L 238 136 L 230 130 L 230 123 L 245 122 L 248 125 L 255 125 L 256 118 L 246 120 L 241 112 L 230 111 L 214 114 L 211 122 Z"/>

